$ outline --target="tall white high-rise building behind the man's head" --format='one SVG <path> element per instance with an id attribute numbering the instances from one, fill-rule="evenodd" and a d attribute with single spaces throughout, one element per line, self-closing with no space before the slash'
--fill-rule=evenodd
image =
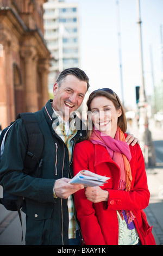
<path id="1" fill-rule="evenodd" d="M 49 89 L 64 69 L 80 68 L 80 39 L 78 3 L 48 0 L 43 4 L 47 47 L 54 60 L 49 73 Z"/>

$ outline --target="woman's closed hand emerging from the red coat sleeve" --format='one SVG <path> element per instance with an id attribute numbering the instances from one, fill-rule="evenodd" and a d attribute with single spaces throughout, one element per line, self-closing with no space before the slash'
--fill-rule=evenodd
<path id="1" fill-rule="evenodd" d="M 103 201 L 108 201 L 109 192 L 102 190 L 101 187 L 86 187 L 85 196 L 88 200 L 93 203 L 99 203 Z"/>

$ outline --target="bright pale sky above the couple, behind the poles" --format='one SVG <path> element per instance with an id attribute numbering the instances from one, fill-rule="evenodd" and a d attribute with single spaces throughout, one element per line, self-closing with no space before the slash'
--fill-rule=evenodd
<path id="1" fill-rule="evenodd" d="M 124 106 L 134 108 L 135 87 L 141 85 L 137 0 L 65 0 L 65 2 L 79 3 L 81 68 L 90 78 L 90 91 L 111 88 L 121 100 L 124 100 Z M 163 51 L 160 26 L 162 25 L 163 36 L 163 0 L 140 0 L 140 16 L 143 76 L 146 94 L 151 95 L 154 88 L 152 77 L 154 84 L 159 83 L 162 78 Z M 118 32 L 121 35 L 119 37 Z M 118 38 L 121 39 L 120 44 Z"/>

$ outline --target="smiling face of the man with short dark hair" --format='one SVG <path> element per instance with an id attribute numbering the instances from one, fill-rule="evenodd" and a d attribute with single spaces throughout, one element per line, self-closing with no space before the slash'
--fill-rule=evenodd
<path id="1" fill-rule="evenodd" d="M 58 83 L 54 84 L 52 107 L 55 111 L 61 112 L 62 118 L 67 121 L 70 113 L 82 104 L 86 91 L 86 82 L 80 81 L 76 76 L 67 75 L 60 87 Z"/>

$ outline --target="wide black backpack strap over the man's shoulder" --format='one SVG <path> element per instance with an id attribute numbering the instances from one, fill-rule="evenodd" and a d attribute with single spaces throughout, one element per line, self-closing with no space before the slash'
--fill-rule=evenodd
<path id="1" fill-rule="evenodd" d="M 28 150 L 24 160 L 24 173 L 31 174 L 36 167 L 41 168 L 43 151 L 43 134 L 34 113 L 20 113 L 17 119 L 21 118 L 26 127 L 28 135 Z"/>

